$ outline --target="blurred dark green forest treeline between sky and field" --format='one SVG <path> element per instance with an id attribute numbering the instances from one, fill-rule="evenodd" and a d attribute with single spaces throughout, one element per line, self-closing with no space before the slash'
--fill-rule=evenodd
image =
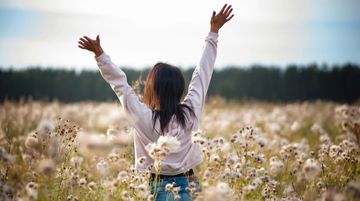
<path id="1" fill-rule="evenodd" d="M 140 76 L 138 70 L 123 68 L 127 81 Z M 186 88 L 194 68 L 183 70 Z M 143 79 L 149 69 L 143 70 Z M 30 67 L 26 70 L 0 68 L 0 100 L 19 100 L 32 96 L 35 100 L 63 102 L 111 101 L 117 99 L 109 84 L 98 71 L 60 70 Z M 360 68 L 357 64 L 328 67 L 309 64 L 286 68 L 253 65 L 214 70 L 208 95 L 227 99 L 256 99 L 291 102 L 304 100 L 332 100 L 354 102 L 360 97 Z"/>

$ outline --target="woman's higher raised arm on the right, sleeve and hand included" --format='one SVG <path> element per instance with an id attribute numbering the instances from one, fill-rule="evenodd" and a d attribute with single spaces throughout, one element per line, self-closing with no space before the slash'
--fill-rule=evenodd
<path id="1" fill-rule="evenodd" d="M 202 54 L 193 73 L 188 94 L 185 96 L 184 101 L 182 102 L 183 104 L 194 108 L 195 115 L 198 119 L 204 107 L 205 96 L 210 84 L 216 59 L 218 41 L 217 37 L 219 36 L 219 29 L 234 16 L 230 16 L 231 11 L 233 11 L 231 5 L 229 5 L 228 8 L 226 8 L 226 6 L 227 4 L 222 7 L 217 15 L 215 11 L 212 13 L 210 20 L 210 32 L 205 38 Z"/>

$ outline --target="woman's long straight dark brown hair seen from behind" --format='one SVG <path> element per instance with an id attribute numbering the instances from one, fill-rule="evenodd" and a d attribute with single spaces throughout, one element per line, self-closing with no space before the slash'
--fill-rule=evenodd
<path id="1" fill-rule="evenodd" d="M 188 128 L 186 119 L 189 120 L 190 117 L 185 110 L 187 109 L 190 115 L 195 116 L 195 113 L 191 107 L 180 104 L 184 91 L 185 80 L 179 68 L 163 62 L 158 62 L 151 68 L 146 78 L 144 103 L 153 110 L 153 130 L 159 118 L 161 132 L 157 133 L 164 133 L 174 114 L 181 127 L 184 130 Z"/>

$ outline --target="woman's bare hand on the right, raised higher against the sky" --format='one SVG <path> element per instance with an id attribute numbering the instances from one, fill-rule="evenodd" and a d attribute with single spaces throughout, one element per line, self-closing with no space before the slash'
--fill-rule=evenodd
<path id="1" fill-rule="evenodd" d="M 210 32 L 219 33 L 219 29 L 222 27 L 222 25 L 224 25 L 227 21 L 233 18 L 234 14 L 229 17 L 233 9 L 230 9 L 231 5 L 226 8 L 227 5 L 228 4 L 225 4 L 217 15 L 215 11 L 212 12 L 210 20 Z"/>

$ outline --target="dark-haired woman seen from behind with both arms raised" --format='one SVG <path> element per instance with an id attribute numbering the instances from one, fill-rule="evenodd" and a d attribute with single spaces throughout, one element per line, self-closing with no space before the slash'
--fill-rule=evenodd
<path id="1" fill-rule="evenodd" d="M 210 20 L 210 32 L 208 33 L 202 50 L 202 55 L 193 73 L 189 85 L 189 91 L 184 100 L 181 97 L 185 90 L 184 76 L 175 66 L 158 62 L 155 64 L 147 77 L 144 89 L 144 103 L 140 102 L 127 84 L 125 73 L 111 62 L 100 46 L 100 38 L 95 40 L 86 36 L 80 38 L 78 47 L 95 53 L 95 60 L 104 79 L 110 83 L 116 95 L 120 99 L 125 111 L 126 118 L 134 127 L 135 143 L 135 169 L 144 171 L 154 161 L 149 157 L 145 146 L 157 142 L 160 135 L 170 135 L 180 141 L 180 147 L 166 155 L 162 162 L 159 178 L 163 179 L 156 200 L 190 200 L 190 187 L 197 187 L 201 191 L 193 169 L 202 162 L 197 144 L 193 144 L 191 134 L 199 129 L 199 119 L 204 107 L 205 95 L 210 83 L 213 66 L 216 58 L 217 37 L 219 29 L 234 15 L 230 16 L 231 5 L 223 6 L 216 15 L 213 11 Z M 146 157 L 144 164 L 138 164 L 140 157 Z M 184 169 L 189 169 L 184 176 Z M 156 170 L 151 169 L 152 178 Z M 180 187 L 176 197 L 168 197 L 165 190 L 166 184 Z M 150 182 L 153 187 L 153 181 Z M 178 188 L 177 188 L 178 189 Z M 152 189 L 152 193 L 154 187 Z"/>

